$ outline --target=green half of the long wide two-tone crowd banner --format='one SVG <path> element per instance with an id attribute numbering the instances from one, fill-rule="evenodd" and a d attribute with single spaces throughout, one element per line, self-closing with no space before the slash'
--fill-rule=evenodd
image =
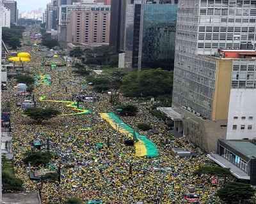
<path id="1" fill-rule="evenodd" d="M 107 114 L 114 122 L 120 124 L 120 126 L 122 128 L 124 128 L 125 130 L 127 130 L 129 133 L 131 133 L 133 135 L 134 129 L 127 126 L 127 124 L 125 124 L 122 120 L 120 120 L 115 115 L 115 113 L 107 113 Z M 145 136 L 145 135 L 140 135 L 140 133 L 137 133 L 136 131 L 135 131 L 135 133 L 136 133 L 136 136 L 145 144 L 145 147 L 147 149 L 147 156 L 148 157 L 157 157 L 157 156 L 159 156 L 156 144 L 154 142 L 151 142 L 150 140 L 148 140 L 147 136 Z"/>

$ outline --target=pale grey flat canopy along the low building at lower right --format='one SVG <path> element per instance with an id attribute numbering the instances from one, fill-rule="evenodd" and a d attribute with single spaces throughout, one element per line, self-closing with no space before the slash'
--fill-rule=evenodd
<path id="1" fill-rule="evenodd" d="M 218 154 L 207 154 L 207 157 L 215 161 L 217 164 L 224 168 L 230 168 L 230 171 L 232 175 L 234 175 L 237 179 L 245 179 L 250 180 L 250 176 L 245 173 L 243 170 L 235 166 L 234 164 L 230 163 L 227 159 L 224 157 L 221 157 Z"/>

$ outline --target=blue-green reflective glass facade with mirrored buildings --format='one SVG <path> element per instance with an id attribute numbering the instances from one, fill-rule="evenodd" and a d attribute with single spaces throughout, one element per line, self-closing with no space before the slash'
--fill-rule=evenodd
<path id="1" fill-rule="evenodd" d="M 177 4 L 145 4 L 141 69 L 173 68 Z"/>

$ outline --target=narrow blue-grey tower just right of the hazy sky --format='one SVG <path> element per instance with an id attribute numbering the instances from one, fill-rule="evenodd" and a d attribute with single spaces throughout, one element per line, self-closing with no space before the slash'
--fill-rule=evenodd
<path id="1" fill-rule="evenodd" d="M 46 29 L 57 30 L 58 25 L 58 0 L 52 0 L 46 7 Z"/>

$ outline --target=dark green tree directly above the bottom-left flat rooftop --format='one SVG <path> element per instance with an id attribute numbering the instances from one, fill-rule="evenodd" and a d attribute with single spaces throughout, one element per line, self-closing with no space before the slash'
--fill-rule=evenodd
<path id="1" fill-rule="evenodd" d="M 22 192 L 22 180 L 13 177 L 10 172 L 2 171 L 2 184 L 4 193 Z"/>

